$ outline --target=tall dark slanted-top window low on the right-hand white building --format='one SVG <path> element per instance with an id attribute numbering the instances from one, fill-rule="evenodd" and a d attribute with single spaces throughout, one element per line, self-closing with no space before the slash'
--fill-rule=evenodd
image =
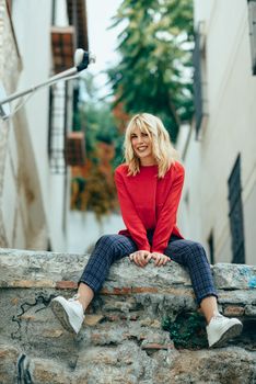
<path id="1" fill-rule="evenodd" d="M 243 204 L 241 187 L 241 156 L 232 169 L 229 178 L 229 202 L 230 202 L 230 228 L 232 240 L 232 253 L 234 263 L 245 262 L 244 250 L 244 224 L 243 224 Z"/>

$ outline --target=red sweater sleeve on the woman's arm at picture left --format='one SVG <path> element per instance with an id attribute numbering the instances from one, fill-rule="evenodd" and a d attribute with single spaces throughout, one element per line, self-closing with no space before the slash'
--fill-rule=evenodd
<path id="1" fill-rule="evenodd" d="M 121 210 L 121 216 L 132 240 L 135 240 L 139 250 L 150 251 L 150 244 L 147 237 L 147 230 L 130 199 L 128 190 L 123 180 L 123 174 L 120 174 L 118 170 L 116 170 L 115 172 L 115 182 L 118 201 Z"/>

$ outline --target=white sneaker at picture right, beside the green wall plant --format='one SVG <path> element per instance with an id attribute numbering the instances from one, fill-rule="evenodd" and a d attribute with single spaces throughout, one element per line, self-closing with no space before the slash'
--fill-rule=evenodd
<path id="1" fill-rule="evenodd" d="M 209 347 L 221 347 L 224 341 L 238 336 L 243 324 L 237 318 L 228 318 L 218 314 L 207 326 Z"/>

